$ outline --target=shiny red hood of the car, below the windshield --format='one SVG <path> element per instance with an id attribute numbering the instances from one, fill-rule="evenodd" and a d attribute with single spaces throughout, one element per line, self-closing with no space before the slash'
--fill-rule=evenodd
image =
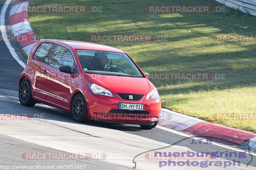
<path id="1" fill-rule="evenodd" d="M 148 78 L 87 74 L 91 83 L 100 85 L 114 93 L 147 95 L 156 88 Z"/>

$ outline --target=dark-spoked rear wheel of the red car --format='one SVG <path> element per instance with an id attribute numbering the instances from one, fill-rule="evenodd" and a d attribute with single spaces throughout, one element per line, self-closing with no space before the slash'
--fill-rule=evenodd
<path id="1" fill-rule="evenodd" d="M 23 106 L 35 106 L 36 101 L 32 98 L 31 85 L 29 80 L 23 80 L 19 87 L 19 100 Z"/>

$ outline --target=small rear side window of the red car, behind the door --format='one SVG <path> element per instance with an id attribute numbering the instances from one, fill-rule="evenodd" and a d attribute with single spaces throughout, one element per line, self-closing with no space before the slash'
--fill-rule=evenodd
<path id="1" fill-rule="evenodd" d="M 36 50 L 34 59 L 47 63 L 48 62 L 48 57 L 51 52 L 53 44 L 52 43 L 42 43 Z"/>

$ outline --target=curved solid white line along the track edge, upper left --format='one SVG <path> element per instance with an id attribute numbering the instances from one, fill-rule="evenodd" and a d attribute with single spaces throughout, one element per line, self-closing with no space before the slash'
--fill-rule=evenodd
<path id="1" fill-rule="evenodd" d="M 4 2 L 4 5 L 1 10 L 1 14 L 0 14 L 0 30 L 3 37 L 7 37 L 6 26 L 5 26 L 5 14 L 10 3 L 11 3 L 11 0 L 6 0 Z M 12 57 L 20 64 L 21 67 L 25 68 L 26 64 L 20 60 L 18 54 L 15 52 L 14 48 L 12 47 L 11 42 L 6 41 L 5 38 L 3 38 L 3 40 L 6 44 L 6 47 L 9 49 Z"/>

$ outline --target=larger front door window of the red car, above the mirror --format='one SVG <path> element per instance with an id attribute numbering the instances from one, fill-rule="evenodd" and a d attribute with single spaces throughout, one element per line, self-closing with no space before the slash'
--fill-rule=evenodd
<path id="1" fill-rule="evenodd" d="M 68 65 L 72 68 L 74 58 L 67 48 L 54 44 L 48 64 L 56 68 L 59 68 L 62 65 Z"/>

